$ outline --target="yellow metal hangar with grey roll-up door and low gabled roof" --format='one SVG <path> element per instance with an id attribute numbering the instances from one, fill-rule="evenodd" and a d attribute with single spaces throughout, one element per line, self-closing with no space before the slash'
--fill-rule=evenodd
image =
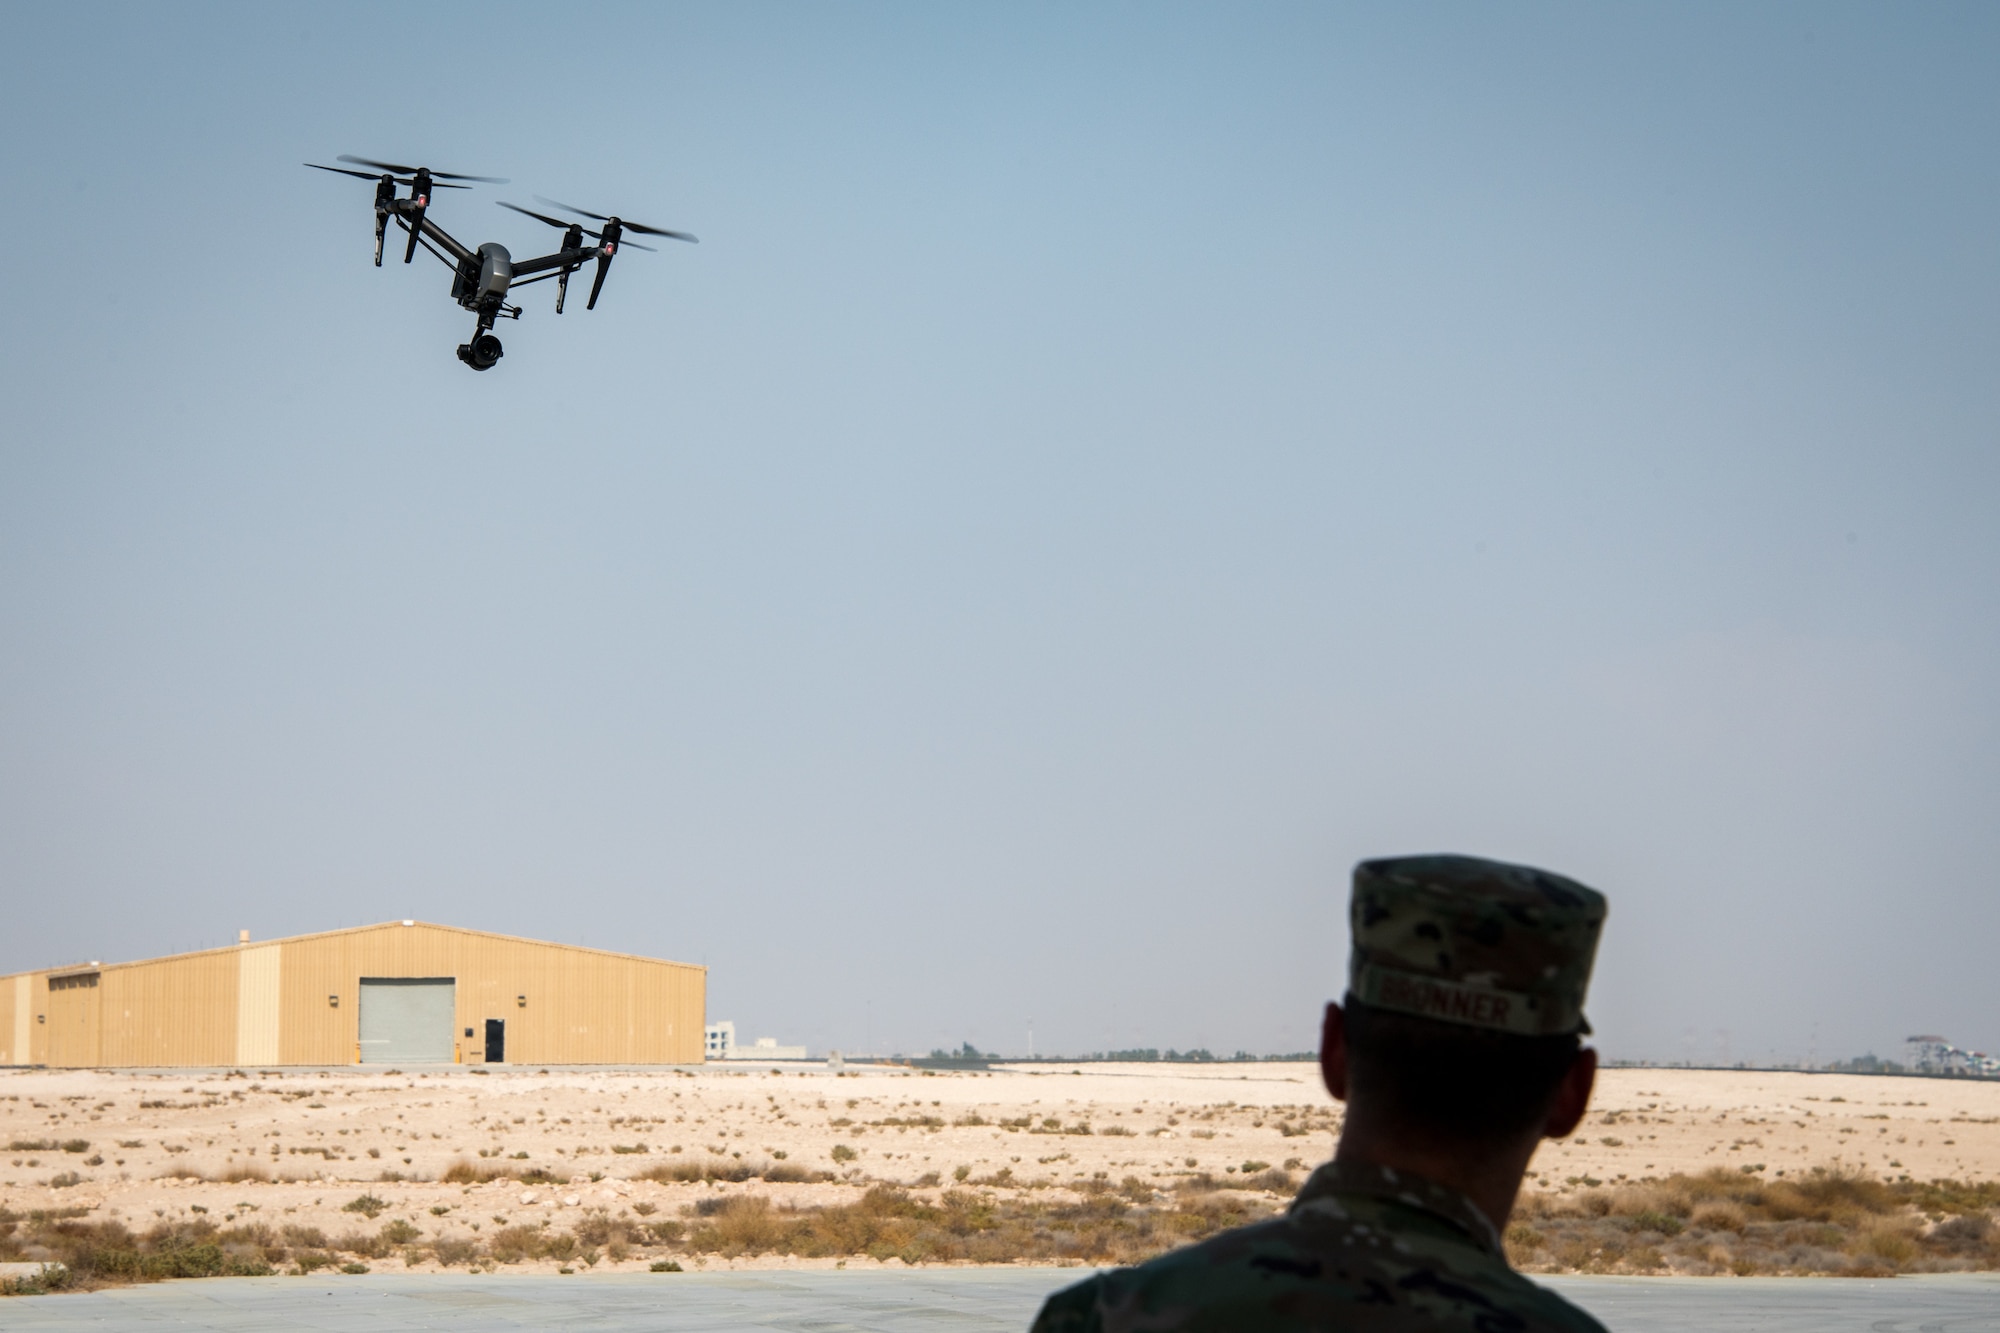
<path id="1" fill-rule="evenodd" d="M 0 1065 L 698 1065 L 708 969 L 424 921 L 0 977 Z"/>

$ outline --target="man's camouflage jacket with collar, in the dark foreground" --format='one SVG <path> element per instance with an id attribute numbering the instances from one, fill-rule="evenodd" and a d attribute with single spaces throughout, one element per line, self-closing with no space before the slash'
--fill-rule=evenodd
<path id="1" fill-rule="evenodd" d="M 1034 1333 L 1604 1333 L 1508 1267 L 1464 1195 L 1326 1163 L 1290 1211 L 1098 1273 L 1048 1299 Z"/>

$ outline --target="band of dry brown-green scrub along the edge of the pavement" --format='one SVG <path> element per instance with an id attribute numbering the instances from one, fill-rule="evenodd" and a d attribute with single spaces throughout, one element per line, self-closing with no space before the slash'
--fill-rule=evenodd
<path id="1" fill-rule="evenodd" d="M 734 1177 L 740 1163 L 716 1163 Z M 668 1167 L 670 1169 L 670 1167 Z M 744 1175 L 750 1175 L 744 1167 Z M 956 1175 L 956 1173 L 954 1173 Z M 1266 1177 L 1290 1177 L 1266 1173 Z M 418 1243 L 418 1229 L 388 1219 L 376 1231 L 328 1239 L 318 1227 L 246 1223 L 218 1231 L 206 1217 L 132 1235 L 90 1223 L 84 1209 L 28 1215 L 0 1211 L 0 1259 L 62 1265 L 0 1291 L 94 1287 L 160 1277 L 310 1273 L 404 1253 L 442 1265 L 598 1263 L 640 1257 L 658 1271 L 666 1253 L 902 1259 L 904 1263 L 1076 1261 L 1134 1263 L 1268 1217 L 1280 1181 L 1182 1177 L 1172 1189 L 1108 1175 L 1068 1191 L 990 1193 L 948 1189 L 936 1199 L 874 1185 L 852 1203 L 784 1207 L 762 1195 L 710 1195 L 680 1221 L 590 1209 L 574 1231 L 512 1225 L 482 1241 Z M 706 1171 L 698 1179 L 708 1179 Z M 1012 1183 L 1012 1181 L 1010 1181 Z M 1012 1183 L 1018 1187 L 1018 1183 Z M 350 1211 L 370 1219 L 382 1201 L 362 1195 Z M 1592 1273 L 1844 1273 L 1888 1275 L 2000 1267 L 2000 1185 L 1886 1183 L 1822 1171 L 1758 1181 L 1742 1173 L 1638 1181 L 1576 1195 L 1526 1195 L 1506 1231 L 1512 1259 L 1530 1271 Z M 636 1207 L 634 1211 L 656 1211 Z"/>

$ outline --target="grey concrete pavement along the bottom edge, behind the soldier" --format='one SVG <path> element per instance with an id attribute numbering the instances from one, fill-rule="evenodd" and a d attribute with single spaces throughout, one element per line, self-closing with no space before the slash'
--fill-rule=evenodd
<path id="1" fill-rule="evenodd" d="M 234 1277 L 0 1301 L 8 1333 L 1022 1331 L 1082 1269 Z M 2000 1275 L 1550 1279 L 1616 1333 L 2000 1333 Z"/>

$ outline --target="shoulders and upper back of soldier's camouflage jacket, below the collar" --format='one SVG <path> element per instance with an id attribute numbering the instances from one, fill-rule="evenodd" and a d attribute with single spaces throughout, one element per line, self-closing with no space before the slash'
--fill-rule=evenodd
<path id="1" fill-rule="evenodd" d="M 1470 1243 L 1328 1231 L 1278 1217 L 1114 1269 L 1048 1299 L 1034 1333 L 1288 1329 L 1604 1333 L 1554 1291 Z"/>

